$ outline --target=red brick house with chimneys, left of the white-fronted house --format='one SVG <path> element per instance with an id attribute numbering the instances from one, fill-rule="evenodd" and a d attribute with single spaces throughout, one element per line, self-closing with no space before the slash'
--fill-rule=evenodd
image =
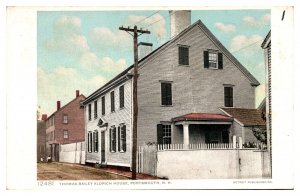
<path id="1" fill-rule="evenodd" d="M 81 142 L 85 140 L 84 134 L 84 110 L 80 107 L 80 102 L 85 99 L 84 95 L 79 95 L 65 106 L 61 107 L 57 101 L 57 111 L 47 118 L 46 140 L 47 155 L 52 161 L 59 161 L 59 145 Z"/>

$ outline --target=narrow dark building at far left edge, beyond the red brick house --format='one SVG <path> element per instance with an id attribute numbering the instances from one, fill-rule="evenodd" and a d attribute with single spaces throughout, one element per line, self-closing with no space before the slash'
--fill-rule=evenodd
<path id="1" fill-rule="evenodd" d="M 46 120 L 47 115 L 43 114 L 42 119 L 37 121 L 37 137 L 36 137 L 36 155 L 37 162 L 46 161 Z"/>

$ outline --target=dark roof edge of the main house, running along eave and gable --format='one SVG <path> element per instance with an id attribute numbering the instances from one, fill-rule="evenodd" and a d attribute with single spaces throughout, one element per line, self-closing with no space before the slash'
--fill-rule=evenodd
<path id="1" fill-rule="evenodd" d="M 221 44 L 221 42 L 210 32 L 210 30 L 201 22 L 201 20 L 196 21 L 194 24 L 190 25 L 185 30 L 181 31 L 178 35 L 176 35 L 171 40 L 167 41 L 157 49 L 153 50 L 150 54 L 139 60 L 138 64 L 141 66 L 143 62 L 145 62 L 147 59 L 150 59 L 155 54 L 159 53 L 164 48 L 168 47 L 170 44 L 174 43 L 178 38 L 183 36 L 185 33 L 190 31 L 195 26 L 199 26 L 204 33 L 219 47 L 221 51 L 223 51 L 224 55 L 229 58 L 233 64 L 249 79 L 251 82 L 251 85 L 258 86 L 259 82 L 254 78 L 254 76 Z M 116 81 L 118 81 L 121 77 L 125 77 L 126 75 L 131 75 L 130 70 L 133 68 L 133 65 L 126 68 L 124 71 L 122 71 L 119 75 L 111 79 L 109 82 L 107 82 L 105 85 L 100 87 L 98 90 L 96 90 L 94 93 L 89 95 L 85 101 L 82 102 L 83 105 L 86 105 L 88 102 L 93 101 L 94 99 L 98 98 L 103 94 L 105 89 L 107 89 L 110 85 L 114 85 Z"/>

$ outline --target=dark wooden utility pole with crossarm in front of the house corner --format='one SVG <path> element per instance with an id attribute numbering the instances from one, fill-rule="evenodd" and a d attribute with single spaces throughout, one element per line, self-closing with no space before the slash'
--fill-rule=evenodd
<path id="1" fill-rule="evenodd" d="M 132 121 L 132 148 L 131 148 L 131 169 L 132 180 L 136 180 L 136 151 L 137 151 L 137 117 L 138 117 L 138 100 L 137 100 L 137 76 L 138 76 L 138 36 L 144 33 L 150 34 L 148 30 L 138 30 L 134 28 L 119 27 L 119 30 L 133 32 L 133 51 L 134 51 L 134 67 L 133 67 L 133 121 Z M 129 33 L 131 34 L 131 33 Z M 131 34 L 132 35 L 132 34 Z"/>

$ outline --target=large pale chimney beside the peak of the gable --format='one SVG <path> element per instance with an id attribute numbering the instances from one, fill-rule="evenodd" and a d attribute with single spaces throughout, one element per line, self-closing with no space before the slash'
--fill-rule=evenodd
<path id="1" fill-rule="evenodd" d="M 191 10 L 171 10 L 171 38 L 191 25 Z"/>

